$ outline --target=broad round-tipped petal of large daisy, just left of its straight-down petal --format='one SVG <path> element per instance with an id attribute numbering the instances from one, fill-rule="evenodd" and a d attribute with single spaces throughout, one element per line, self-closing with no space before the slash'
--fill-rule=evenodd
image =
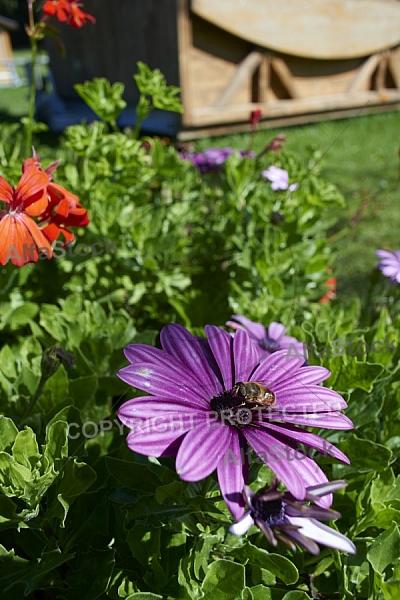
<path id="1" fill-rule="evenodd" d="M 232 435 L 231 427 L 221 421 L 193 427 L 182 441 L 176 457 L 176 470 L 185 481 L 199 481 L 210 475 L 226 454 Z"/>

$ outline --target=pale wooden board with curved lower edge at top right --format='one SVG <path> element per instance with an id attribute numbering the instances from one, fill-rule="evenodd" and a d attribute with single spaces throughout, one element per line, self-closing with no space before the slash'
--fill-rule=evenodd
<path id="1" fill-rule="evenodd" d="M 192 0 L 192 11 L 284 54 L 356 58 L 400 43 L 400 3 L 390 0 Z"/>

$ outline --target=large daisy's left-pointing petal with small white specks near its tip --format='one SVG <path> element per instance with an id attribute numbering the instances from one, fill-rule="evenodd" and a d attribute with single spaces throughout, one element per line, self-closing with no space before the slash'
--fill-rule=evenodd
<path id="1" fill-rule="evenodd" d="M 208 406 L 205 394 L 198 389 L 197 381 L 191 373 L 182 369 L 177 371 L 168 368 L 165 363 L 159 365 L 149 363 L 135 363 L 118 371 L 118 377 L 139 390 L 164 396 L 166 399 L 186 400 L 198 407 Z"/>

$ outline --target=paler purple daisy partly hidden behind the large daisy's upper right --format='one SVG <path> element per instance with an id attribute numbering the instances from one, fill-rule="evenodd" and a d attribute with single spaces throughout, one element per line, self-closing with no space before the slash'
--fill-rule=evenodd
<path id="1" fill-rule="evenodd" d="M 303 356 L 304 360 L 307 359 L 306 345 L 294 337 L 285 335 L 286 328 L 282 323 L 273 321 L 267 330 L 262 323 L 255 323 L 241 315 L 232 315 L 231 319 L 235 319 L 238 323 L 227 321 L 226 325 L 233 329 L 244 329 L 247 331 L 250 339 L 256 346 L 260 360 L 278 350 L 287 350 L 289 357 L 293 353 L 298 357 Z"/>

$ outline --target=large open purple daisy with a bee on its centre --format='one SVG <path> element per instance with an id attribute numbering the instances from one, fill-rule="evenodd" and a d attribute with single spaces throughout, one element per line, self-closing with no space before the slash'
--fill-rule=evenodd
<path id="1" fill-rule="evenodd" d="M 296 427 L 353 427 L 339 412 L 347 406 L 344 399 L 317 385 L 329 371 L 302 367 L 302 359 L 287 359 L 285 351 L 260 362 L 246 331 L 234 337 L 213 325 L 205 331 L 207 340 L 181 325 L 167 325 L 160 334 L 163 350 L 144 344 L 125 348 L 131 365 L 118 376 L 151 394 L 129 400 L 119 410 L 120 420 L 131 429 L 128 446 L 147 456 L 176 456 L 177 472 L 185 481 L 217 470 L 222 496 L 235 518 L 244 511 L 250 448 L 303 500 L 307 486 L 327 479 L 308 455 L 296 459 L 298 444 L 349 462 L 323 438 Z M 254 387 L 264 390 L 258 405 Z M 318 502 L 327 507 L 331 500 Z"/>

